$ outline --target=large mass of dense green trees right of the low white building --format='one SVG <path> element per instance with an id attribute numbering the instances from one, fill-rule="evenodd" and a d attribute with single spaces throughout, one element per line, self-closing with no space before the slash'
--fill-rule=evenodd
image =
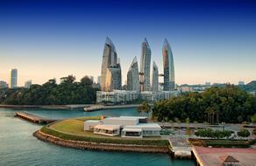
<path id="1" fill-rule="evenodd" d="M 251 121 L 256 113 L 256 98 L 237 86 L 210 87 L 203 93 L 186 93 L 169 100 L 154 103 L 156 121 Z"/>

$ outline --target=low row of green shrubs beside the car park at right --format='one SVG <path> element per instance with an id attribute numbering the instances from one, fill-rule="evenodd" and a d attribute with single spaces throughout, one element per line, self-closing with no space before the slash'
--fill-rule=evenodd
<path id="1" fill-rule="evenodd" d="M 219 131 L 219 130 L 212 130 L 210 128 L 207 128 L 207 129 L 197 130 L 196 136 L 210 137 L 210 138 L 228 138 L 231 136 L 231 133 L 232 132 L 229 130 Z"/>

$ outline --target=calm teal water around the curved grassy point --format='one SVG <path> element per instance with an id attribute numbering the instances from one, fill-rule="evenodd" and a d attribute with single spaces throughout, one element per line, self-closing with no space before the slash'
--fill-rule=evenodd
<path id="1" fill-rule="evenodd" d="M 189 160 L 173 160 L 163 154 L 101 152 L 69 149 L 41 142 L 32 132 L 41 126 L 13 117 L 15 111 L 29 111 L 50 118 L 87 115 L 138 115 L 135 109 L 104 110 L 84 113 L 82 110 L 11 110 L 0 108 L 0 166 L 9 165 L 172 165 L 194 166 Z"/>

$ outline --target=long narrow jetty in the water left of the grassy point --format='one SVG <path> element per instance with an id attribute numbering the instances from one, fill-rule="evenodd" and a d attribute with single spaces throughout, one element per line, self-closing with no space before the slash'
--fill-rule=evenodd
<path id="1" fill-rule="evenodd" d="M 57 121 L 57 120 L 53 120 L 53 119 L 46 119 L 44 117 L 41 117 L 39 115 L 36 114 L 30 114 L 27 112 L 15 112 L 14 116 L 24 119 L 26 121 L 31 121 L 33 123 L 39 123 L 39 124 L 48 124 L 51 123 L 53 121 Z"/>

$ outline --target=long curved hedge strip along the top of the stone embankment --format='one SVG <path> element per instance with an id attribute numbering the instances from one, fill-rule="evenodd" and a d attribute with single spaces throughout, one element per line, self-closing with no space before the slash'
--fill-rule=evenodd
<path id="1" fill-rule="evenodd" d="M 68 135 L 60 133 L 46 126 L 40 129 L 41 132 L 47 135 L 53 135 L 64 140 L 74 140 L 83 142 L 101 142 L 101 143 L 115 143 L 115 144 L 136 144 L 136 145 L 155 145 L 155 146 L 168 146 L 167 140 L 126 140 L 126 139 L 111 139 L 111 138 L 96 138 L 89 136 L 79 136 L 79 135 Z"/>

